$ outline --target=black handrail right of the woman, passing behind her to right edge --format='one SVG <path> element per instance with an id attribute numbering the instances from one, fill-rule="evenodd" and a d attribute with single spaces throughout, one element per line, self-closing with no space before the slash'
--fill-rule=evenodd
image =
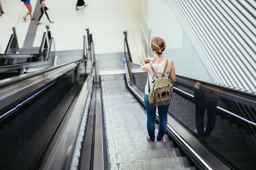
<path id="1" fill-rule="evenodd" d="M 126 41 L 126 45 L 128 46 L 128 42 L 127 42 L 127 39 L 125 38 L 125 41 Z M 127 48 L 128 50 L 128 55 L 129 55 L 129 58 L 131 58 L 130 56 L 130 51 L 129 51 L 129 48 Z M 133 65 L 135 66 L 140 66 L 139 64 L 135 64 L 135 63 L 132 63 Z M 188 82 L 186 83 L 187 85 L 189 86 L 193 86 L 196 84 L 196 83 L 200 83 L 200 86 L 204 86 L 205 88 L 210 88 L 211 90 L 215 90 L 215 89 L 218 89 L 217 91 L 229 91 L 231 93 L 233 93 L 232 95 L 236 95 L 236 96 L 240 96 L 240 95 L 243 95 L 243 98 L 244 97 L 248 97 L 248 98 L 252 98 L 252 97 L 256 97 L 256 93 L 255 92 L 251 92 L 249 93 L 249 91 L 241 91 L 242 89 L 240 88 L 231 88 L 231 87 L 225 87 L 225 86 L 222 86 L 222 85 L 218 85 L 218 84 L 214 84 L 214 83 L 210 83 L 210 82 L 206 82 L 206 81 L 203 81 L 203 80 L 199 80 L 199 79 L 194 79 L 194 78 L 191 78 L 191 77 L 186 77 L 184 75 L 179 75 L 176 73 L 176 81 L 177 82 L 181 82 L 181 83 L 184 83 L 184 82 Z"/>

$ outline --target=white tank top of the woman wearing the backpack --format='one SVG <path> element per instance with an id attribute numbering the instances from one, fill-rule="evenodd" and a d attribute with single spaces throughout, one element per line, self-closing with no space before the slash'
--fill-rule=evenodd
<path id="1" fill-rule="evenodd" d="M 166 61 L 166 58 L 159 64 L 153 64 L 153 66 L 155 66 L 157 68 L 157 73 L 163 73 L 164 72 L 164 67 L 165 67 L 165 61 Z M 164 77 L 168 78 L 169 75 L 170 75 L 170 71 L 171 71 L 171 61 L 169 60 L 169 74 L 166 74 L 164 73 Z M 151 75 L 148 74 L 148 78 L 149 78 L 149 86 L 150 86 L 150 89 L 152 87 L 152 82 L 153 82 L 153 76 L 155 73 L 152 71 L 152 69 L 150 68 L 150 72 L 151 72 Z M 162 76 L 161 74 L 158 74 L 157 76 Z M 154 79 L 156 79 L 156 77 L 154 77 Z M 146 95 L 149 95 L 148 93 L 148 79 L 147 79 L 147 83 L 146 83 L 146 86 L 145 86 L 145 93 Z"/>

